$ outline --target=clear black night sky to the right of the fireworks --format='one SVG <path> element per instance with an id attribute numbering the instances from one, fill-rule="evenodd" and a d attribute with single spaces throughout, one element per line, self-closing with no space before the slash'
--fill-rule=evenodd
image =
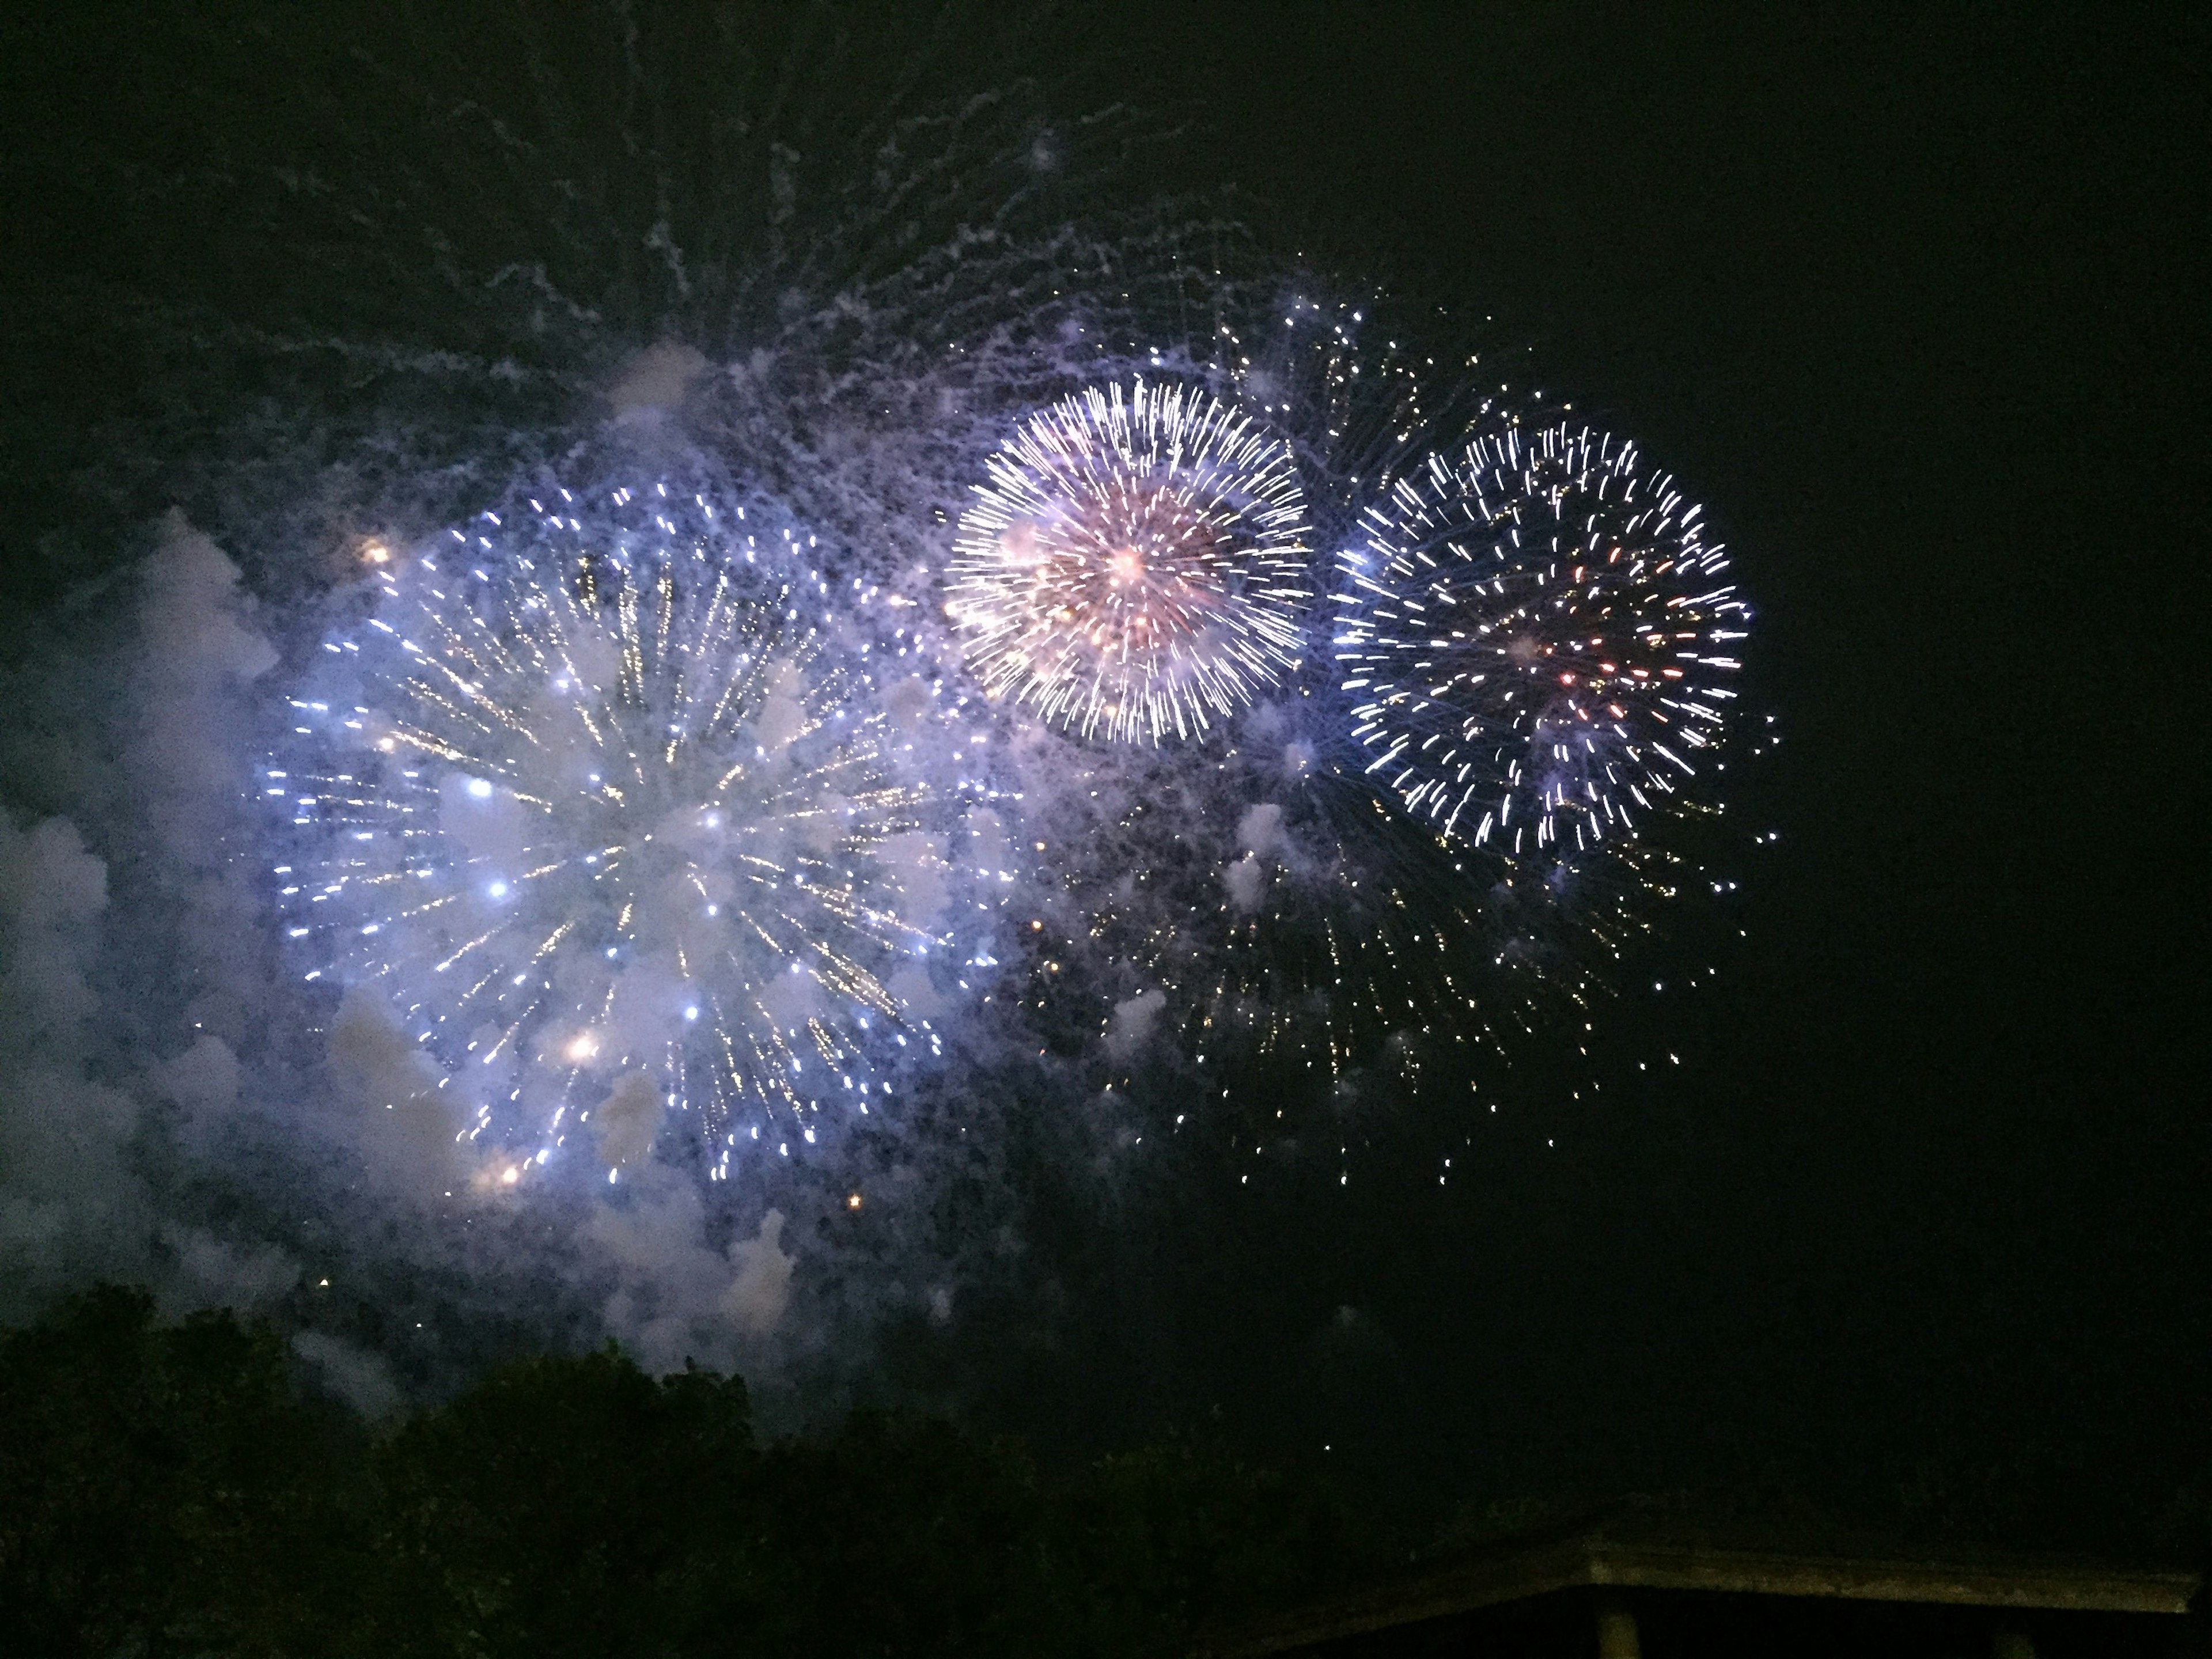
<path id="1" fill-rule="evenodd" d="M 1402 1265 L 1402 1394 L 1347 1416 L 1597 1484 L 2201 1471 L 2201 13 L 1292 4 L 1141 53 L 1237 108 L 1214 166 L 1697 480 L 1790 734 L 1690 1068 L 1329 1230 Z"/>

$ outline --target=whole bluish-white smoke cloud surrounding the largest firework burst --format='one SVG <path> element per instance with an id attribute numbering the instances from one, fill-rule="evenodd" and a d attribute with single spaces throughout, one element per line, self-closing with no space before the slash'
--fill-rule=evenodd
<path id="1" fill-rule="evenodd" d="M 0 737 L 18 779 L 38 785 L 9 796 L 33 812 L 0 818 L 0 1312 L 27 1312 L 95 1276 L 159 1283 L 164 1307 L 285 1307 L 290 1298 L 290 1316 L 307 1325 L 294 1334 L 299 1358 L 372 1418 L 400 1407 L 398 1376 L 418 1367 L 361 1347 L 358 1332 L 316 1325 L 336 1323 L 336 1314 L 319 1312 L 325 1301 L 301 1287 L 305 1261 L 319 1263 L 316 1287 L 327 1256 L 347 1267 L 332 1267 L 345 1283 L 405 1281 L 405 1294 L 451 1298 L 476 1314 L 522 1307 L 518 1318 L 542 1314 L 549 1332 L 584 1310 L 575 1325 L 586 1338 L 595 1316 L 655 1367 L 699 1358 L 772 1369 L 792 1345 L 818 1338 L 836 1294 L 863 1312 L 869 1296 L 905 1310 L 925 1298 L 929 1318 L 951 1321 L 964 1265 L 1004 1254 L 1006 1234 L 978 1223 L 973 1239 L 947 1245 L 918 1243 L 920 1221 L 896 1232 L 902 1212 L 929 1208 L 920 1192 L 953 1157 L 929 1161 L 942 1152 L 927 1141 L 938 1130 L 916 1128 L 922 1115 L 907 1115 L 907 1102 L 927 1095 L 958 1119 L 947 1137 L 975 1126 L 958 1144 L 958 1157 L 969 1159 L 991 1104 L 967 1097 L 971 1082 L 951 1071 L 953 1055 L 1035 1060 L 1024 1084 L 1042 1079 L 1042 1091 L 1077 1097 L 1051 1071 L 1057 1055 L 1046 1062 L 1024 1024 L 1037 984 L 1055 998 L 1060 984 L 1086 984 L 1088 1002 L 1066 1015 L 1077 1037 L 1064 1053 L 1079 1051 L 1077 1066 L 1172 1060 L 1175 1026 L 1206 978 L 1192 969 L 1217 967 L 1208 951 L 1219 951 L 1232 925 L 1250 922 L 1294 869 L 1285 810 L 1254 799 L 1314 770 L 1314 743 L 1283 717 L 1254 710 L 1261 741 L 1252 752 L 1263 752 L 1265 765 L 1254 761 L 1248 772 L 1265 776 L 1217 779 L 1212 750 L 1086 748 L 1024 730 L 980 697 L 949 635 L 938 586 L 949 524 L 980 458 L 1009 425 L 1073 383 L 1126 383 L 1144 372 L 1203 380 L 1223 398 L 1263 392 L 1270 409 L 1290 409 L 1301 380 L 1294 363 L 1279 361 L 1294 356 L 1281 341 L 1307 332 L 1340 338 L 1336 323 L 1310 327 L 1305 307 L 1298 327 L 1285 330 L 1272 270 L 1265 292 L 1254 288 L 1248 319 L 1234 314 L 1243 301 L 1223 283 L 1221 316 L 1206 303 L 1190 310 L 1186 345 L 1175 330 L 1152 330 L 1155 316 L 1186 316 L 1181 226 L 1164 221 L 1155 232 L 1150 221 L 1130 219 L 1077 232 L 1066 208 L 1040 208 L 1042 175 L 1024 157 L 1044 142 L 1024 122 L 978 100 L 933 133 L 907 124 L 898 144 L 878 133 L 878 175 L 838 179 L 830 190 L 799 155 L 779 153 L 770 204 L 776 246 L 750 250 L 774 299 L 741 316 L 741 349 L 706 334 L 708 349 L 681 338 L 639 345 L 602 321 L 615 310 L 599 305 L 606 296 L 560 292 L 544 270 L 522 268 L 460 274 L 478 283 L 493 334 L 498 307 L 513 305 L 507 356 L 498 345 L 469 356 L 332 341 L 332 361 L 347 365 L 341 403 L 378 396 L 354 378 L 363 363 L 409 394 L 427 387 L 429 414 L 394 403 L 356 447 L 389 465 L 383 493 L 349 493 L 343 469 L 321 458 L 265 460 L 232 440 L 208 469 L 259 469 L 276 478 L 272 493 L 283 498 L 259 518 L 241 509 L 239 522 L 265 533 L 226 531 L 223 542 L 254 571 L 265 608 L 223 546 L 170 515 L 128 604 L 77 615 L 71 626 L 82 637 L 33 648 L 29 666 L 11 666 L 11 688 L 44 681 L 51 692 L 42 695 L 62 717 L 18 721 Z M 1051 175 L 1077 170 L 1073 142 L 1055 139 L 1051 150 Z M 960 177 L 989 179 L 993 159 L 1006 157 L 1022 164 L 1006 199 L 947 188 Z M 518 157 L 518 166 L 531 161 Z M 927 177 L 927 188 L 911 188 L 907 168 L 920 168 L 914 177 Z M 566 186 L 564 173 L 549 179 Z M 810 190 L 832 204 L 834 223 L 805 226 Z M 867 206 L 869 190 L 880 195 L 880 212 Z M 916 228 L 916 215 L 938 212 L 929 201 L 949 206 Z M 431 217 L 453 208 L 436 192 L 422 204 Z M 880 237 L 885 228 L 896 237 Z M 1221 230 L 1206 226 L 1208 268 L 1219 265 Z M 635 246 L 635 237 L 624 243 Z M 710 261 L 686 261 L 666 223 L 653 226 L 646 246 L 675 299 L 706 292 L 695 285 L 712 279 Z M 885 259 L 891 246 L 905 252 Z M 841 263 L 825 248 L 865 248 L 867 259 Z M 739 243 L 719 259 L 739 270 L 750 254 Z M 830 292 L 807 285 L 816 270 L 863 265 L 872 274 L 836 279 Z M 1077 268 L 1082 283 L 1071 274 Z M 438 283 L 447 281 L 453 274 L 440 265 Z M 1141 310 L 1148 283 L 1155 316 Z M 728 292 L 721 299 L 732 301 Z M 701 316 L 706 307 L 670 303 L 666 314 Z M 739 316 L 734 301 L 730 314 Z M 1248 363 L 1248 383 L 1219 356 L 1223 316 L 1261 323 L 1245 330 L 1250 349 L 1265 358 Z M 1261 336 L 1276 345 L 1259 345 Z M 608 363 L 619 367 L 586 367 Z M 462 396 L 451 396 L 453 385 Z M 604 425 L 586 429 L 560 416 L 571 425 L 555 431 L 549 418 L 546 431 L 524 431 L 507 416 L 469 427 L 473 416 L 458 414 L 522 385 L 555 387 Z M 303 453 L 330 436 L 290 409 L 274 425 L 299 427 Z M 1325 429 L 1321 420 L 1307 427 Z M 440 471 L 427 453 L 451 465 Z M 533 471 L 555 453 L 564 456 L 557 467 Z M 513 1082 L 511 1071 L 447 1073 L 429 1057 L 407 995 L 334 978 L 310 984 L 312 964 L 283 953 L 268 887 L 294 876 L 272 869 L 285 854 L 272 852 L 281 843 L 252 812 L 252 759 L 268 752 L 270 723 L 283 721 L 301 659 L 349 602 L 332 573 L 361 568 L 363 529 L 392 546 L 425 531 L 442 538 L 440 526 L 458 518 L 451 500 L 467 500 L 469 513 L 504 502 L 509 489 L 529 500 L 542 478 L 571 462 L 568 482 L 619 473 L 644 489 L 655 473 L 639 469 L 699 456 L 712 458 L 701 467 L 741 478 L 785 518 L 821 529 L 821 562 L 841 602 L 858 604 L 867 593 L 876 606 L 867 630 L 838 646 L 876 653 L 885 723 L 905 745 L 902 763 L 911 761 L 942 803 L 927 825 L 878 849 L 896 894 L 894 920 L 914 933 L 911 956 L 900 953 L 885 973 L 905 1037 L 900 1071 L 885 1079 L 900 1093 L 887 1108 L 867 1095 L 869 1106 L 845 1119 L 860 1148 L 847 1166 L 836 1164 L 841 1146 L 816 1146 L 792 1128 L 787 1141 L 774 1133 L 748 1139 L 739 1152 L 750 1164 L 732 1179 L 703 1181 L 681 1157 L 697 1137 L 677 1130 L 690 1124 L 646 1073 L 617 1077 L 608 1064 L 586 1068 L 568 1102 L 566 1164 L 538 1166 L 555 1152 L 549 1146 L 533 1148 L 524 1168 L 522 1152 L 478 1150 L 471 1139 L 478 1108 Z M 86 646 L 95 635 L 97 653 Z M 794 741 L 803 726 L 790 690 L 759 714 L 763 748 Z M 1276 723 L 1263 732 L 1265 719 Z M 33 737 L 22 737 L 27 730 Z M 1177 761 L 1186 765 L 1177 770 Z M 487 854 L 518 852 L 526 816 L 515 801 L 471 790 L 476 774 L 458 761 L 440 765 L 436 827 Z M 1159 787 L 1161 779 L 1175 787 Z M 301 902 L 312 896 L 301 894 Z M 1099 922 L 1106 911 L 1117 931 Z M 1009 938 L 1015 929 L 1020 938 Z M 1170 938 L 1181 951 L 1172 964 L 1128 945 L 1150 949 Z M 1024 956 L 1031 949 L 1035 960 Z M 1062 969 L 1071 971 L 1051 978 Z M 759 989 L 759 998 L 799 1031 L 823 1013 L 825 993 L 792 978 Z M 664 1015 L 677 1006 L 672 995 L 657 1002 Z M 635 1048 L 655 1035 L 619 1000 L 593 1020 Z M 495 1033 L 465 1035 L 489 1048 Z M 816 1051 L 807 1060 L 814 1064 Z M 863 1146 L 863 1137 L 880 1139 Z M 841 1245 L 830 1223 L 845 1219 L 841 1177 L 869 1168 L 863 1150 L 876 1155 L 885 1144 L 896 1144 L 894 1192 L 878 1203 L 872 1186 L 867 1219 L 891 1230 L 887 1252 L 909 1254 L 874 1279 L 836 1274 L 843 1263 L 832 1252 Z M 190 1210 L 177 1194 L 195 1181 L 221 1186 L 232 1208 Z M 210 1219 L 210 1208 L 223 1221 Z M 838 1279 L 863 1287 L 827 1290 Z M 416 1290 L 425 1283 L 436 1290 Z"/>

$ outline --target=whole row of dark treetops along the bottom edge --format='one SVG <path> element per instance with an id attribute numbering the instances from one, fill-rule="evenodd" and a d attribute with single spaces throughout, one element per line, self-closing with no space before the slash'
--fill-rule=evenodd
<path id="1" fill-rule="evenodd" d="M 7 1655 L 1141 1655 L 1349 1566 L 1318 1491 L 1194 1444 L 1042 1473 L 608 1347 L 372 1440 L 281 1338 L 97 1290 L 0 1338 Z"/>

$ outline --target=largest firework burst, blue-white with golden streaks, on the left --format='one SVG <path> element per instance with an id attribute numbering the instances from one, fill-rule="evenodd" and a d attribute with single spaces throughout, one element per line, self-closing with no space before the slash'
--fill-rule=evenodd
<path id="1" fill-rule="evenodd" d="M 942 841 L 900 763 L 929 690 L 849 666 L 790 529 L 666 487 L 615 491 L 637 533 L 531 507 L 367 551 L 374 608 L 265 770 L 288 931 L 310 980 L 387 1000 L 476 1137 L 546 1161 L 597 1113 L 622 1166 L 666 1110 L 726 1175 L 936 1046 Z"/>

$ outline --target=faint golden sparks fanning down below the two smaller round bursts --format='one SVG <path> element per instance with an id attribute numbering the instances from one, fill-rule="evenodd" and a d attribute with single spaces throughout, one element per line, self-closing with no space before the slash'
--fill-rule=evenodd
<path id="1" fill-rule="evenodd" d="M 1323 710 L 1263 703 L 1181 752 L 1029 761 L 1022 960 L 1011 991 L 1055 1053 L 1197 1064 L 1221 1113 L 1281 1113 L 1307 1084 L 1467 1091 L 1577 1026 L 1681 880 L 1644 841 L 1513 858 L 1442 841 L 1360 776 Z M 1155 1079 L 1157 1082 L 1157 1079 Z M 1234 1086 L 1234 1099 L 1228 1088 Z"/>

